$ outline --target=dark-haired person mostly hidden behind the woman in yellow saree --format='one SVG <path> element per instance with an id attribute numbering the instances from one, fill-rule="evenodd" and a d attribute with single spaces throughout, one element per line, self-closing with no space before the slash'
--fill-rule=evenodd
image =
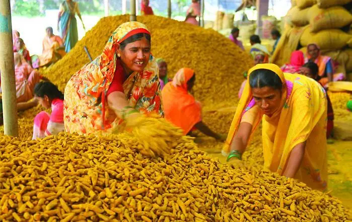
<path id="1" fill-rule="evenodd" d="M 300 73 L 306 77 L 312 78 L 313 80 L 319 82 L 320 77 L 318 75 L 319 67 L 315 62 L 308 61 L 305 63 L 300 70 Z M 332 130 L 334 128 L 334 111 L 332 109 L 332 104 L 329 95 L 326 93 L 327 100 L 327 126 L 326 126 L 326 138 L 332 136 Z"/>

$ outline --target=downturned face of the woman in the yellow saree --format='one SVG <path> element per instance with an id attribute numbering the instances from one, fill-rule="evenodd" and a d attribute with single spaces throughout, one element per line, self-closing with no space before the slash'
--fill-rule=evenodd
<path id="1" fill-rule="evenodd" d="M 271 87 L 253 88 L 255 104 L 264 112 L 265 115 L 272 115 L 280 108 L 281 91 Z"/>

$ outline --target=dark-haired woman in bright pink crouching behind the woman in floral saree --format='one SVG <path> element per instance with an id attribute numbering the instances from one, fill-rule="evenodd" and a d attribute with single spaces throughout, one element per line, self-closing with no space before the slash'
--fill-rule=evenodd
<path id="1" fill-rule="evenodd" d="M 34 87 L 34 98 L 45 109 L 51 107 L 51 114 L 40 112 L 34 118 L 32 139 L 56 135 L 64 131 L 63 94 L 50 82 L 40 82 Z"/>

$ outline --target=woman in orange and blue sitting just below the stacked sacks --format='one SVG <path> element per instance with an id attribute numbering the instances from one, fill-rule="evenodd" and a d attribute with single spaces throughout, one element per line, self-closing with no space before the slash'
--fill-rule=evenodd
<path id="1" fill-rule="evenodd" d="M 307 45 L 307 58 L 305 62 L 308 62 L 308 60 L 315 62 L 319 66 L 318 75 L 321 77 L 319 83 L 324 87 L 329 82 L 344 80 L 343 73 L 333 75 L 334 70 L 331 58 L 321 55 L 320 48 L 317 44 Z"/>

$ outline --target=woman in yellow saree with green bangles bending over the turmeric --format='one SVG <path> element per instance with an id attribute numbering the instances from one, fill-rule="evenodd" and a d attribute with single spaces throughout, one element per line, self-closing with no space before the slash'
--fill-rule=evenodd
<path id="1" fill-rule="evenodd" d="M 262 120 L 264 168 L 313 189 L 327 185 L 326 93 L 314 80 L 258 64 L 237 106 L 223 154 L 239 162 Z"/>

